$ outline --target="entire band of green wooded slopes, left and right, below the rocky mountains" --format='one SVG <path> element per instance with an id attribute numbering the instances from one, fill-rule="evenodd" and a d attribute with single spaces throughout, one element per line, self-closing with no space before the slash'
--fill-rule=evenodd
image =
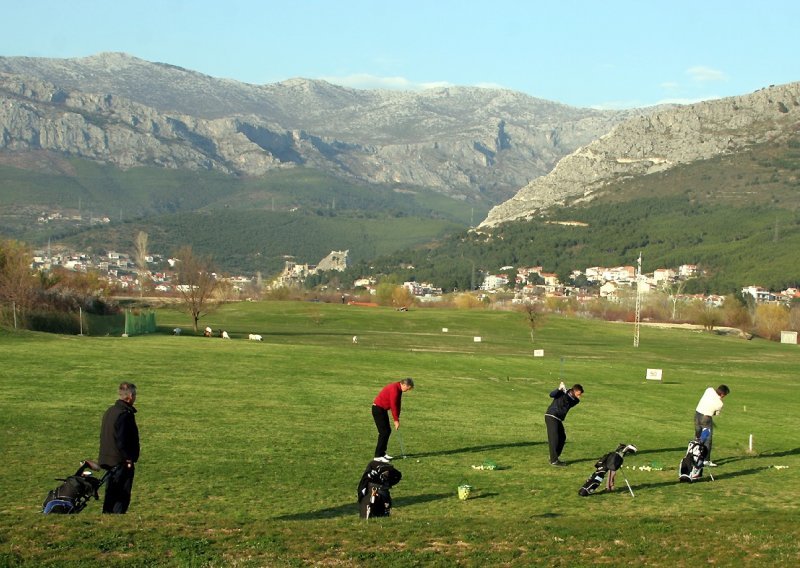
<path id="1" fill-rule="evenodd" d="M 486 206 L 352 184 L 309 169 L 236 179 L 120 171 L 80 160 L 61 167 L 73 173 L 0 168 L 7 188 L 0 193 L 4 235 L 38 245 L 51 238 L 79 249 L 125 251 L 143 230 L 154 252 L 171 254 L 188 242 L 213 255 L 222 271 L 267 274 L 280 270 L 286 256 L 315 263 L 331 250 L 349 249 L 351 281 L 382 273 L 446 290 L 468 289 L 480 283 L 481 273 L 506 265 L 541 265 L 566 281 L 572 270 L 633 264 L 640 252 L 647 272 L 699 265 L 705 276 L 691 291 L 727 293 L 749 284 L 778 290 L 800 283 L 796 137 L 618 182 L 589 203 L 478 232 L 465 227 Z M 9 213 L 24 209 L 22 203 L 78 202 L 84 210 L 119 208 L 122 220 L 41 229 L 31 223 L 30 211 Z M 584 226 L 560 224 L 574 221 Z"/>

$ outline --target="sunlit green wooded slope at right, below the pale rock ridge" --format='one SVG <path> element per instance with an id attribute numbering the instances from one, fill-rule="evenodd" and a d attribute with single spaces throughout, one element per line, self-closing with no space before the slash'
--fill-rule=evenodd
<path id="1" fill-rule="evenodd" d="M 462 231 L 372 264 L 400 279 L 464 289 L 475 266 L 541 265 L 566 282 L 572 270 L 634 265 L 642 253 L 646 272 L 697 264 L 705 276 L 689 289 L 727 293 L 749 284 L 797 286 L 798 247 L 800 145 L 793 140 L 634 178 L 589 203 Z M 402 268 L 408 265 L 415 268 Z M 353 276 L 364 269 L 354 267 Z"/>

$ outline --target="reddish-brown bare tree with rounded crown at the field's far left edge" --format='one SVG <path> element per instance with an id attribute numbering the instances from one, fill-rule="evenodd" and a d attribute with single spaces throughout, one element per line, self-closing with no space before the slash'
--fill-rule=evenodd
<path id="1" fill-rule="evenodd" d="M 214 299 L 218 281 L 211 257 L 195 255 L 190 246 L 181 248 L 175 256 L 179 261 L 176 289 L 183 310 L 192 317 L 196 333 L 200 318 L 213 312 L 219 305 L 219 301 Z"/>

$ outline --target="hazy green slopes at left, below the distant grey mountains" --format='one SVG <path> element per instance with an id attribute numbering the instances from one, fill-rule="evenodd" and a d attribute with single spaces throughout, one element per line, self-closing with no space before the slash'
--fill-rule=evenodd
<path id="1" fill-rule="evenodd" d="M 0 187 L 5 237 L 124 252 L 145 231 L 152 252 L 169 255 L 188 242 L 220 270 L 244 273 L 280 270 L 285 255 L 316 263 L 331 250 L 349 249 L 356 259 L 388 254 L 457 231 L 488 208 L 303 168 L 234 178 L 51 158 L 47 168 L 0 166 Z M 35 222 L 56 209 L 86 219 L 107 215 L 111 223 Z"/>

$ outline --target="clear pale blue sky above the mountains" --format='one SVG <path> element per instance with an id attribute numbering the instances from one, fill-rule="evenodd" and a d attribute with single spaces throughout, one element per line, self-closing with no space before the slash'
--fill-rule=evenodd
<path id="1" fill-rule="evenodd" d="M 800 81 L 797 0 L 6 0 L 0 55 L 120 51 L 253 84 L 492 86 L 595 108 Z"/>

